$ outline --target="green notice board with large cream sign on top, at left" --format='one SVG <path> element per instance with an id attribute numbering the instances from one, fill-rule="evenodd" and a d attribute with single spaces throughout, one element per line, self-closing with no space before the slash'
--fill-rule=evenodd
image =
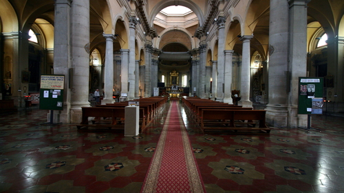
<path id="1" fill-rule="evenodd" d="M 39 109 L 63 110 L 63 88 L 65 75 L 41 75 Z"/>

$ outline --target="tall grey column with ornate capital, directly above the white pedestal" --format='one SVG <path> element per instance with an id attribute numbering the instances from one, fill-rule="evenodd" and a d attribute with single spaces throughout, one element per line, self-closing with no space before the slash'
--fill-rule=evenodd
<path id="1" fill-rule="evenodd" d="M 138 20 L 136 17 L 129 19 L 129 65 L 128 65 L 128 100 L 135 98 L 135 30 Z"/>

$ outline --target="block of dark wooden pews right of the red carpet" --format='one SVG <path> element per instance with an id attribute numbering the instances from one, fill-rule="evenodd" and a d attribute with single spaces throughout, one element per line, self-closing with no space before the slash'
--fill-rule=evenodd
<path id="1" fill-rule="evenodd" d="M 204 133 L 268 134 L 266 111 L 197 97 L 183 97 L 186 113 Z"/>

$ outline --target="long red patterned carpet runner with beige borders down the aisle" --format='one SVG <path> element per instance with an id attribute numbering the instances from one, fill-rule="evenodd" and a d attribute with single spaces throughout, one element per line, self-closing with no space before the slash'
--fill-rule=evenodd
<path id="1" fill-rule="evenodd" d="M 141 192 L 206 192 L 176 101 L 172 101 Z"/>

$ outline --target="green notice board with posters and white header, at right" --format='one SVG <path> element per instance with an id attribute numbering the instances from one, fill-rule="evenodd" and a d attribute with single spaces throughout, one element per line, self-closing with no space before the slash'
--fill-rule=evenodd
<path id="1" fill-rule="evenodd" d="M 323 114 L 323 78 L 299 77 L 299 114 Z"/>

